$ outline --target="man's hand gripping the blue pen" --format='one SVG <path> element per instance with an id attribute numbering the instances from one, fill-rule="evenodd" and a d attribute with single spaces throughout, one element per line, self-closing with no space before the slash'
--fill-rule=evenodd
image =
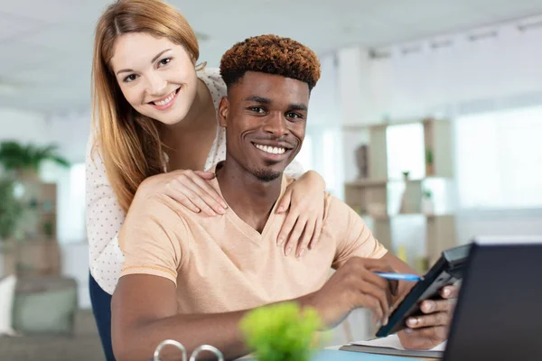
<path id="1" fill-rule="evenodd" d="M 336 326 L 351 310 L 360 307 L 371 310 L 380 323 L 387 324 L 397 282 L 388 281 L 375 271 L 394 272 L 385 260 L 352 257 L 304 303 L 316 309 L 328 327 Z"/>

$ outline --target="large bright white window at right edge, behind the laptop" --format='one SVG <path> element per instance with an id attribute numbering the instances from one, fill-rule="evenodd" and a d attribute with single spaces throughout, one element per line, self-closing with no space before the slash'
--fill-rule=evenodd
<path id="1" fill-rule="evenodd" d="M 542 106 L 455 122 L 461 208 L 542 208 Z"/>

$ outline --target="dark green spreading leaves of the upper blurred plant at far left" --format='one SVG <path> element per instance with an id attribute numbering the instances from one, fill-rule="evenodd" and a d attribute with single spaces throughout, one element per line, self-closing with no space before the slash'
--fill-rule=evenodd
<path id="1" fill-rule="evenodd" d="M 40 170 L 44 161 L 55 162 L 62 167 L 70 166 L 70 162 L 57 153 L 54 144 L 38 146 L 32 143 L 23 145 L 14 141 L 0 143 L 0 164 L 5 171 L 34 171 Z"/>

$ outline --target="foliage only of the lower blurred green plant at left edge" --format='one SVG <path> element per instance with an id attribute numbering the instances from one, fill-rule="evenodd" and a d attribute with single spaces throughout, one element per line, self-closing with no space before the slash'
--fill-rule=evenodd
<path id="1" fill-rule="evenodd" d="M 0 179 L 0 239 L 14 236 L 22 214 L 23 206 L 14 195 L 14 180 Z"/>

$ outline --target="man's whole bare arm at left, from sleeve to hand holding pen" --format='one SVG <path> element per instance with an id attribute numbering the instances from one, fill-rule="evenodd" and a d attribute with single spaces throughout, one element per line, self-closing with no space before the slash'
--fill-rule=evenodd
<path id="1" fill-rule="evenodd" d="M 391 272 L 382 260 L 353 257 L 333 273 L 322 289 L 295 300 L 302 308 L 315 309 L 326 327 L 333 327 L 350 310 L 360 307 L 383 318 L 391 305 L 390 282 L 374 273 Z M 180 341 L 192 353 L 208 344 L 227 359 L 248 354 L 238 328 L 249 310 L 220 314 L 177 314 L 177 295 L 172 281 L 148 274 L 121 277 L 112 301 L 113 350 L 117 360 L 148 360 L 164 339 Z M 166 349 L 164 349 L 166 351 Z M 170 353 L 170 359 L 178 356 Z"/>

